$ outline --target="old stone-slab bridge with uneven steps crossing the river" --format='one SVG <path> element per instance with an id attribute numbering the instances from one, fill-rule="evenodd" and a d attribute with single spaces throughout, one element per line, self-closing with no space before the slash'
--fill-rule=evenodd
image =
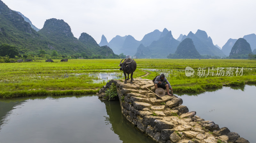
<path id="1" fill-rule="evenodd" d="M 175 95 L 156 99 L 148 90 L 155 91 L 152 80 L 134 79 L 133 84 L 111 80 L 97 95 L 108 100 L 105 91 L 112 83 L 118 97 L 110 100 L 119 100 L 124 117 L 158 143 L 249 143 L 227 127 L 219 128 L 213 121 L 195 116 L 196 111 L 189 112 Z"/>

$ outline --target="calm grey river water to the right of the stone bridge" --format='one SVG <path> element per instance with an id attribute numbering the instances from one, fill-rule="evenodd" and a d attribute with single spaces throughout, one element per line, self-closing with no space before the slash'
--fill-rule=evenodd
<path id="1" fill-rule="evenodd" d="M 244 88 L 223 87 L 217 91 L 205 92 L 197 96 L 181 95 L 183 105 L 196 115 L 211 120 L 220 128 L 227 127 L 240 137 L 256 142 L 256 86 Z"/>

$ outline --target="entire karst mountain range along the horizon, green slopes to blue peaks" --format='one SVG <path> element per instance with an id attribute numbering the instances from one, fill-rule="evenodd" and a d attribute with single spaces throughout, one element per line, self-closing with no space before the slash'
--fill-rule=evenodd
<path id="1" fill-rule="evenodd" d="M 199 29 L 195 34 L 192 32 L 189 32 L 188 35 L 180 34 L 178 39 L 174 39 L 172 32 L 166 28 L 162 32 L 154 30 L 146 34 L 140 41 L 132 35 L 123 37 L 117 35 L 108 42 L 102 35 L 100 43 L 97 44 L 85 32 L 81 33 L 79 39 L 74 37 L 70 26 L 64 20 L 47 19 L 44 27 L 38 29 L 23 14 L 12 11 L 1 0 L 0 19 L 0 44 L 16 46 L 20 54 L 38 54 L 40 50 L 51 54 L 53 50 L 56 50 L 58 54 L 83 53 L 86 57 L 99 58 L 119 58 L 117 54 L 121 53 L 138 58 L 167 58 L 167 56 L 181 58 L 182 52 L 186 57 L 198 57 L 197 53 L 203 57 L 235 57 L 234 53 L 231 53 L 237 39 L 228 39 L 227 43 L 220 48 L 218 45 L 213 45 L 211 37 L 205 31 Z M 193 44 L 187 38 L 191 39 Z M 187 43 L 190 49 L 188 46 L 182 45 L 185 39 L 184 43 Z M 249 43 L 251 52 L 256 54 L 256 35 L 245 35 L 243 39 Z M 240 50 L 241 48 L 238 47 L 235 46 L 235 49 Z M 243 48 L 240 52 L 243 53 Z M 193 53 L 195 56 L 188 56 L 189 53 Z"/>

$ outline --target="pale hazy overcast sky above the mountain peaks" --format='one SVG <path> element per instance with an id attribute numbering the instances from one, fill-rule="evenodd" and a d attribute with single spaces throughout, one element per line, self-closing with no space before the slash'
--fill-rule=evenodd
<path id="1" fill-rule="evenodd" d="M 46 19 L 63 19 L 76 38 L 82 32 L 100 43 L 116 35 L 141 40 L 149 32 L 167 28 L 180 34 L 204 30 L 222 47 L 229 38 L 256 33 L 255 0 L 2 0 L 20 11 L 37 28 Z"/>

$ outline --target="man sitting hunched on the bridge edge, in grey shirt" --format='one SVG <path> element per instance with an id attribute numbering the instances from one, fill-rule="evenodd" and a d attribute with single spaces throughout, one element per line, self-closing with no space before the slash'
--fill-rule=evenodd
<path id="1" fill-rule="evenodd" d="M 166 83 L 165 83 L 166 82 Z M 171 87 L 171 84 L 167 81 L 167 79 L 165 78 L 164 74 L 161 74 L 159 76 L 156 77 L 156 80 L 155 80 L 155 89 L 157 88 L 163 88 L 167 90 L 167 94 L 172 96 L 170 93 L 169 93 L 169 88 L 172 90 L 172 87 Z"/>

